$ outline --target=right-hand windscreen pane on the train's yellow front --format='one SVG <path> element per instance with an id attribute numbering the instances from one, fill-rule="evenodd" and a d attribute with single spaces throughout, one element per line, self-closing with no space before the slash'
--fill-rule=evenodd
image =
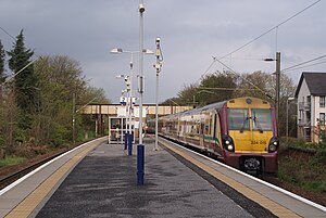
<path id="1" fill-rule="evenodd" d="M 273 130 L 272 114 L 268 108 L 253 108 L 252 113 L 252 130 Z"/>

